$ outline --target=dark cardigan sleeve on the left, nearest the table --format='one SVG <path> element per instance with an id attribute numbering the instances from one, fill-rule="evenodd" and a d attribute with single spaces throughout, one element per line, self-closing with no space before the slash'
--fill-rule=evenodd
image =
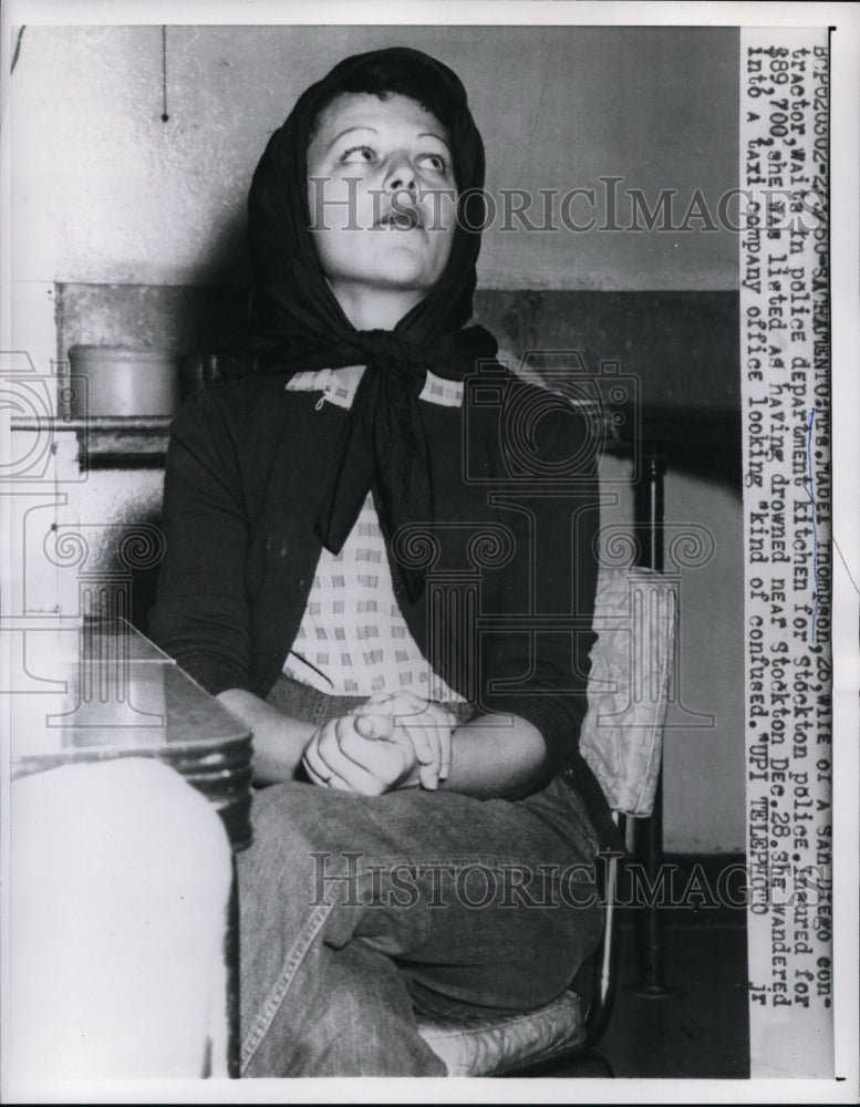
<path id="1" fill-rule="evenodd" d="M 250 687 L 249 524 L 236 448 L 213 393 L 183 406 L 165 474 L 165 558 L 152 638 L 208 692 Z"/>

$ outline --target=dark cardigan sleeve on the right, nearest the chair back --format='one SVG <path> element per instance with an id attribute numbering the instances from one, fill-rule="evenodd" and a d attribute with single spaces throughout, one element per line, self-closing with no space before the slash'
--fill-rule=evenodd
<path id="1" fill-rule="evenodd" d="M 547 423 L 536 465 L 542 475 L 498 496 L 514 513 L 517 549 L 505 568 L 501 625 L 483 650 L 481 706 L 528 720 L 547 747 L 541 772 L 517 795 L 583 767 L 579 732 L 595 639 L 600 501 L 594 452 L 583 439 L 593 432 L 576 412 L 559 411 Z M 571 474 L 566 461 L 580 455 L 586 459 Z"/>

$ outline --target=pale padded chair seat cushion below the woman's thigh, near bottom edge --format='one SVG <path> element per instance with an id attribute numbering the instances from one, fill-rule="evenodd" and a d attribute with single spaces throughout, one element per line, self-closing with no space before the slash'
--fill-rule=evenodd
<path id="1" fill-rule="evenodd" d="M 463 1017 L 418 1016 L 418 1033 L 442 1057 L 448 1076 L 494 1076 L 543 1061 L 586 1037 L 576 992 L 535 1011 Z"/>

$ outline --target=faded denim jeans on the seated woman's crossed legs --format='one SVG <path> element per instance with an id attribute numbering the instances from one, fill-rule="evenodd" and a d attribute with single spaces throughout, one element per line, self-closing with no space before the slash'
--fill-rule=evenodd
<path id="1" fill-rule="evenodd" d="M 276 689 L 311 721 L 350 705 Z M 519 800 L 297 780 L 261 789 L 252 824 L 237 859 L 246 1077 L 444 1076 L 416 1012 L 540 1006 L 598 943 L 597 838 L 562 780 Z"/>

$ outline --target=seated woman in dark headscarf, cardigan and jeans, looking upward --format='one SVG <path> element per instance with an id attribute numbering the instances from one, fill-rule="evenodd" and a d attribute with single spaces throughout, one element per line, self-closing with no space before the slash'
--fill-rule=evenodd
<path id="1" fill-rule="evenodd" d="M 449 69 L 335 66 L 251 186 L 260 371 L 174 424 L 153 633 L 267 785 L 247 1076 L 444 1075 L 416 1010 L 536 1007 L 599 937 L 589 427 L 465 325 L 483 184 Z"/>

